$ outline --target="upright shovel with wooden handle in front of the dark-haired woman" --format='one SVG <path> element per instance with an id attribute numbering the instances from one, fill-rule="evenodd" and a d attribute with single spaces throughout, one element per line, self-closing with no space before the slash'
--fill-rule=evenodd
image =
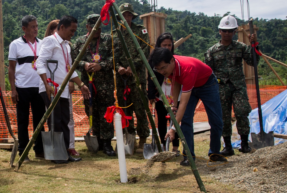
<path id="1" fill-rule="evenodd" d="M 154 119 L 154 123 L 156 122 L 156 103 L 152 102 L 152 119 Z M 164 150 L 163 144 L 160 144 L 162 151 Z M 152 135 L 152 143 L 144 144 L 144 158 L 150 159 L 152 156 L 158 154 L 158 147 L 156 146 L 156 141 L 154 139 L 154 135 Z"/>

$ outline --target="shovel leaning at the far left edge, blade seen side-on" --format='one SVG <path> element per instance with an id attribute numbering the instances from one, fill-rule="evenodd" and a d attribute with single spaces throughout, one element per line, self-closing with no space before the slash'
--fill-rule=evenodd
<path id="1" fill-rule="evenodd" d="M 0 87 L 0 98 L 1 98 L 1 104 L 2 104 L 2 107 L 3 107 L 3 112 L 4 112 L 4 116 L 5 116 L 5 119 L 6 119 L 6 124 L 7 124 L 8 130 L 9 130 L 9 133 L 14 139 L 14 144 L 13 144 L 11 158 L 10 158 L 10 167 L 13 167 L 13 163 L 14 163 L 15 157 L 17 155 L 17 151 L 18 151 L 18 139 L 15 137 L 15 135 L 14 135 L 12 129 L 11 129 L 9 116 L 7 114 L 6 106 L 5 106 L 5 103 L 4 103 L 4 98 L 3 98 L 3 95 L 2 95 L 2 91 L 1 91 L 1 87 Z"/>

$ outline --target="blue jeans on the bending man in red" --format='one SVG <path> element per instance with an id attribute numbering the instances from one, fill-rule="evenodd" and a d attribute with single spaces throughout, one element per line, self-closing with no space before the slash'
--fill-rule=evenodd
<path id="1" fill-rule="evenodd" d="M 199 99 L 203 102 L 208 123 L 210 125 L 210 149 L 211 154 L 220 154 L 221 134 L 222 134 L 222 109 L 219 97 L 219 86 L 215 75 L 212 73 L 208 81 L 201 87 L 193 88 L 183 118 L 181 120 L 181 131 L 195 160 L 193 141 L 193 116 Z M 187 156 L 183 156 L 187 158 Z"/>

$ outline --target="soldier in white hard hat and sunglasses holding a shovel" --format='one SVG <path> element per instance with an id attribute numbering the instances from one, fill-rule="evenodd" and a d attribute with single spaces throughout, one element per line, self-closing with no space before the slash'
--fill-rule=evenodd
<path id="1" fill-rule="evenodd" d="M 251 148 L 248 144 L 250 133 L 249 119 L 251 106 L 247 96 L 247 86 L 243 74 L 242 59 L 253 66 L 251 46 L 242 42 L 232 40 L 237 29 L 236 19 L 232 16 L 225 16 L 218 25 L 221 40 L 209 48 L 204 54 L 205 64 L 210 66 L 219 81 L 220 101 L 222 107 L 223 131 L 225 147 L 221 151 L 224 156 L 234 155 L 231 145 L 232 125 L 231 110 L 233 105 L 236 117 L 236 127 L 241 137 L 241 152 L 248 153 Z M 250 43 L 256 42 L 255 34 L 249 35 Z M 256 46 L 256 49 L 259 49 Z M 259 55 L 256 54 L 257 63 Z"/>

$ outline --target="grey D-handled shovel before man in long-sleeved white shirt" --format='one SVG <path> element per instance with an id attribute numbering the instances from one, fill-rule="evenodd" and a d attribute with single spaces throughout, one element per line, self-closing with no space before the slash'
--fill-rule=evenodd
<path id="1" fill-rule="evenodd" d="M 56 64 L 55 70 L 52 72 L 49 68 L 49 63 Z M 58 68 L 58 60 L 47 60 L 47 68 L 51 74 L 51 87 L 54 89 L 54 73 Z M 51 93 L 51 103 L 54 99 L 54 95 Z M 67 160 L 68 153 L 64 143 L 64 135 L 63 132 L 54 132 L 54 110 L 51 112 L 51 127 L 50 131 L 45 132 L 41 131 L 42 133 L 42 140 L 44 146 L 44 156 L 46 160 Z"/>

